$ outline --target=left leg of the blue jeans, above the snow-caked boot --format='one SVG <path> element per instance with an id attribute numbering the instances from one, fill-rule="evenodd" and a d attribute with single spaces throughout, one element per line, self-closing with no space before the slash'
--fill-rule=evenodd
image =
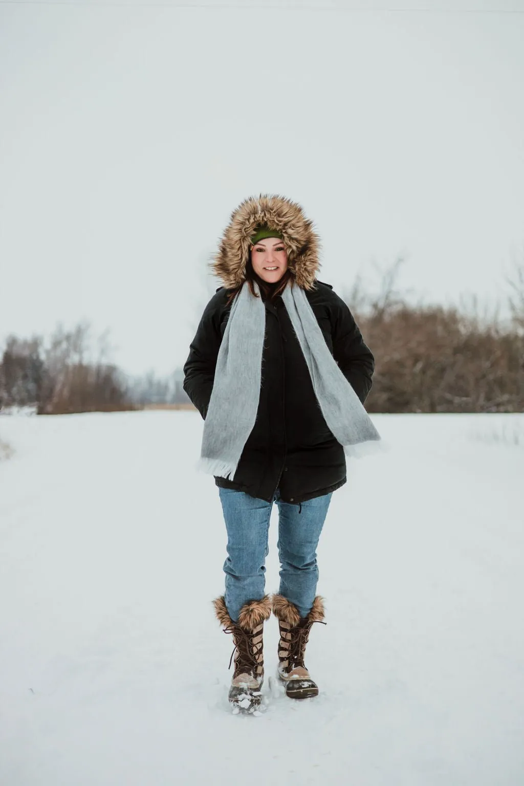
<path id="1" fill-rule="evenodd" d="M 233 622 L 247 601 L 260 601 L 266 588 L 269 518 L 273 502 L 244 491 L 218 487 L 227 531 L 225 606 Z"/>

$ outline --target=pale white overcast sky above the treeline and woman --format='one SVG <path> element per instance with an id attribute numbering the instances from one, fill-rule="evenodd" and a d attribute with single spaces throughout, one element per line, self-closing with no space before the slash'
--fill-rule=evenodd
<path id="1" fill-rule="evenodd" d="M 0 2 L 0 340 L 87 318 L 124 369 L 169 373 L 261 192 L 302 204 L 340 294 L 405 255 L 413 297 L 504 299 L 524 2 L 286 5 Z"/>

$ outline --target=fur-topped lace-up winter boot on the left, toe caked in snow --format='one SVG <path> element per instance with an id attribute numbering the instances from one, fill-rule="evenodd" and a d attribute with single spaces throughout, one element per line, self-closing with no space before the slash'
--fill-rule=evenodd
<path id="1" fill-rule="evenodd" d="M 240 609 L 238 623 L 233 623 L 225 606 L 224 596 L 218 597 L 214 604 L 214 612 L 219 623 L 222 623 L 225 634 L 232 634 L 235 648 L 233 649 L 229 668 L 235 656 L 235 670 L 229 689 L 229 703 L 233 708 L 253 712 L 262 700 L 262 682 L 264 681 L 264 656 L 262 652 L 262 635 L 264 621 L 271 614 L 271 599 L 265 595 L 261 601 L 248 601 Z"/>

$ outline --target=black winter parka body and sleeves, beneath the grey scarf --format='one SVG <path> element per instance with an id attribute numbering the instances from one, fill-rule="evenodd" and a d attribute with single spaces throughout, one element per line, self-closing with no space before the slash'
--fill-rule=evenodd
<path id="1" fill-rule="evenodd" d="M 207 303 L 184 365 L 184 390 L 204 420 L 231 310 L 232 304 L 225 305 L 230 291 L 218 288 Z M 364 403 L 375 362 L 350 309 L 331 285 L 317 279 L 305 292 L 329 351 Z M 268 502 L 280 488 L 283 501 L 300 505 L 346 483 L 346 456 L 324 420 L 284 301 L 280 296 L 273 302 L 262 299 L 266 332 L 255 426 L 233 480 L 215 476 L 215 483 Z"/>

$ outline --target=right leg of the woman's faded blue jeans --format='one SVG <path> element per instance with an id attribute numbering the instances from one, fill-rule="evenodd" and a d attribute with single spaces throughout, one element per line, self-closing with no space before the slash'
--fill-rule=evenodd
<path id="1" fill-rule="evenodd" d="M 317 545 L 333 492 L 291 505 L 277 499 L 280 595 L 295 604 L 301 617 L 313 606 L 317 592 Z"/>

